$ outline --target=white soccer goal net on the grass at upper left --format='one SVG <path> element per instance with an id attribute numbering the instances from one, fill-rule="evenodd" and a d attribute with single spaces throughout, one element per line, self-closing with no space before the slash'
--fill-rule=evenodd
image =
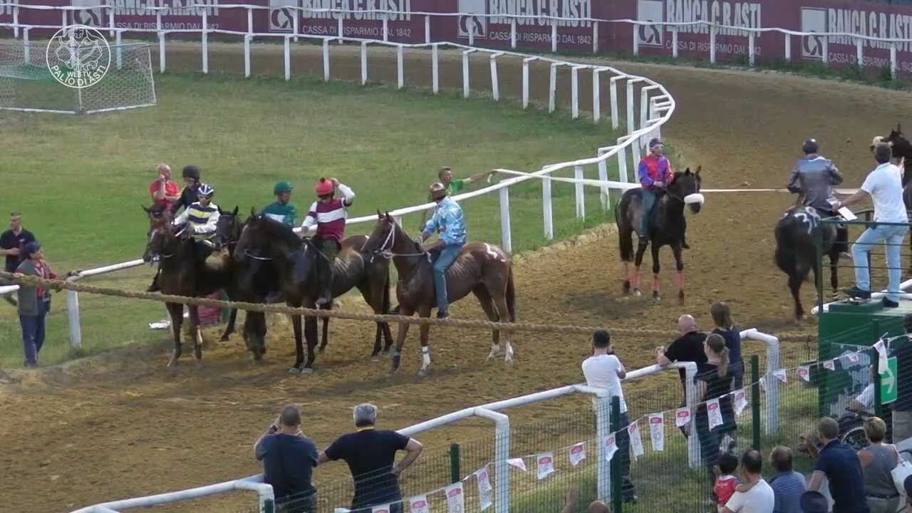
<path id="1" fill-rule="evenodd" d="M 48 52 L 57 48 L 47 42 L 10 41 L 0 43 L 0 110 L 84 113 L 135 109 L 155 105 L 155 81 L 149 45 L 127 43 L 103 48 L 90 79 L 61 82 L 61 74 L 48 67 Z M 73 55 L 71 50 L 70 51 Z M 76 58 L 80 58 L 78 52 Z M 98 69 L 104 71 L 103 76 Z M 74 80 L 73 74 L 64 81 Z M 91 83 L 91 85 L 87 85 Z"/>

